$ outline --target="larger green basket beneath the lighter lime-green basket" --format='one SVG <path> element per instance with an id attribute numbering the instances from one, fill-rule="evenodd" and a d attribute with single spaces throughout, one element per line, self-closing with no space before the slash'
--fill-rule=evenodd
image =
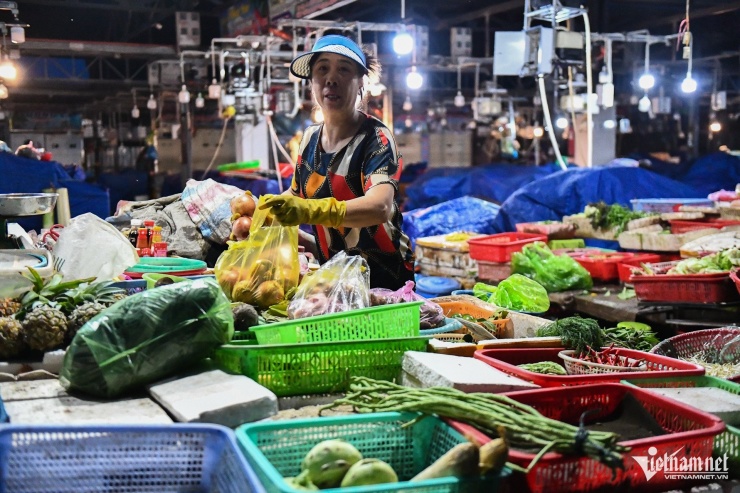
<path id="1" fill-rule="evenodd" d="M 428 340 L 404 337 L 267 346 L 236 341 L 217 349 L 214 360 L 225 371 L 246 375 L 278 396 L 344 392 L 354 376 L 397 379 L 403 353 L 425 351 Z"/>

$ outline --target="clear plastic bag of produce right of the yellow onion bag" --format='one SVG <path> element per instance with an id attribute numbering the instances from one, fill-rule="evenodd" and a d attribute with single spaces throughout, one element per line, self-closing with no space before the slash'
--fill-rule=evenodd
<path id="1" fill-rule="evenodd" d="M 288 317 L 305 318 L 370 306 L 370 269 L 359 255 L 334 255 L 306 275 L 288 305 Z"/>

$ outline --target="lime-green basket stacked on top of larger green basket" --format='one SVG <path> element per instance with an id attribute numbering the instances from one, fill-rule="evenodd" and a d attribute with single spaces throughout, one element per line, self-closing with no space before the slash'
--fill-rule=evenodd
<path id="1" fill-rule="evenodd" d="M 422 302 L 398 303 L 250 327 L 260 344 L 357 341 L 419 335 Z"/>

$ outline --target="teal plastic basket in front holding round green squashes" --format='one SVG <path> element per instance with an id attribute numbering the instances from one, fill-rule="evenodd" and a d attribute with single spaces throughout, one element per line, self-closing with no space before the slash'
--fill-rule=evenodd
<path id="1" fill-rule="evenodd" d="M 236 430 L 236 437 L 267 493 L 297 493 L 298 490 L 289 486 L 283 477 L 297 476 L 303 457 L 314 445 L 336 438 L 350 442 L 363 457 L 390 464 L 399 482 L 328 491 L 494 493 L 498 490 L 500 475 L 467 482 L 455 477 L 408 482 L 452 447 L 467 441 L 446 423 L 431 416 L 402 427 L 417 417 L 415 413 L 376 413 L 274 421 L 243 425 Z"/>

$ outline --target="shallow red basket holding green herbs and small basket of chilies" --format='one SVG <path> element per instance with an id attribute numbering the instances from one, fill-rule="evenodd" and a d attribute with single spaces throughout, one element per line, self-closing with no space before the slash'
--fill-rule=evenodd
<path id="1" fill-rule="evenodd" d="M 522 380 L 532 382 L 540 387 L 570 387 L 588 385 L 591 383 L 618 383 L 624 378 L 632 380 L 638 378 L 659 377 L 688 377 L 704 375 L 704 367 L 658 354 L 620 349 L 619 353 L 632 359 L 643 359 L 648 371 L 595 373 L 590 375 L 544 375 L 520 368 L 525 363 L 539 363 L 552 361 L 562 365 L 563 360 L 558 356 L 565 348 L 527 348 L 527 349 L 483 349 L 475 352 L 474 357 L 484 363 L 513 375 Z"/>

